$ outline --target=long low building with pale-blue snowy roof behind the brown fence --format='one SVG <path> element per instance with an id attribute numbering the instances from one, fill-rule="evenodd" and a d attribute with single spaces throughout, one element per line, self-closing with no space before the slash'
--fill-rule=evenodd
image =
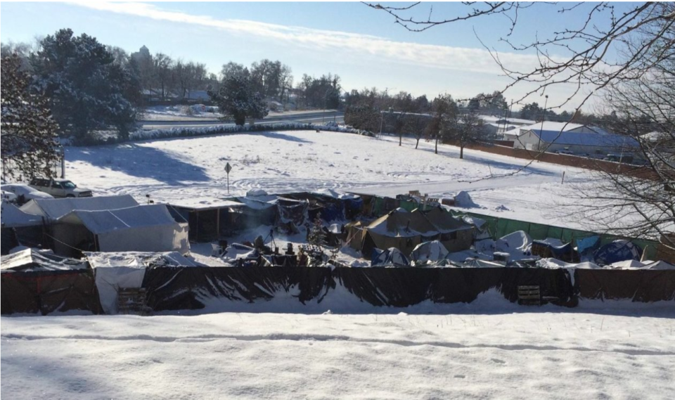
<path id="1" fill-rule="evenodd" d="M 566 150 L 574 154 L 608 155 L 630 153 L 639 148 L 630 136 L 616 134 L 586 133 L 576 131 L 541 131 L 530 129 L 516 138 L 515 148 L 555 152 Z"/>

